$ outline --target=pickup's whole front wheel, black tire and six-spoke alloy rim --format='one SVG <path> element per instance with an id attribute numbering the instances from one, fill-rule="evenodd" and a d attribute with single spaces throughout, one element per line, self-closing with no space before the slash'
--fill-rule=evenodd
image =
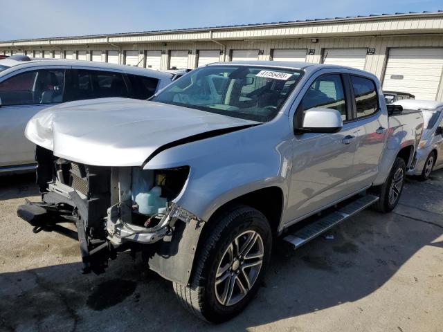
<path id="1" fill-rule="evenodd" d="M 227 210 L 211 223 L 195 259 L 189 286 L 174 283 L 179 301 L 208 322 L 225 322 L 240 313 L 260 287 L 272 247 L 266 217 L 245 205 Z"/>

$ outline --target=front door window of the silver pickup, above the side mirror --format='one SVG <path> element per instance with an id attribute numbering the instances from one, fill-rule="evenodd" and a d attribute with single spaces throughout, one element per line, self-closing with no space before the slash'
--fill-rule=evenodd
<path id="1" fill-rule="evenodd" d="M 318 77 L 311 84 L 301 101 L 302 111 L 321 107 L 336 109 L 341 113 L 342 120 L 347 120 L 345 92 L 339 74 L 326 74 Z"/>

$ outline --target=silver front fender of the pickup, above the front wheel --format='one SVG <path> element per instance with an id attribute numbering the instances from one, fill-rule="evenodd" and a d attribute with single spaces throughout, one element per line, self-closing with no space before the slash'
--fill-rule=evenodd
<path id="1" fill-rule="evenodd" d="M 264 187 L 278 186 L 284 198 L 292 148 L 289 122 L 280 117 L 221 136 L 172 147 L 145 169 L 190 166 L 188 181 L 175 203 L 208 221 L 220 206 Z"/>

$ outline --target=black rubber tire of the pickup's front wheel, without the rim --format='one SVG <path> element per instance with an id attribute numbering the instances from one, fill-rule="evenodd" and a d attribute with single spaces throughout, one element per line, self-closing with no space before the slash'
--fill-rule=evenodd
<path id="1" fill-rule="evenodd" d="M 207 322 L 220 323 L 238 315 L 257 293 L 271 257 L 272 234 L 266 217 L 261 212 L 246 205 L 236 205 L 211 219 L 210 223 L 214 223 L 215 226 L 206 234 L 207 239 L 199 253 L 197 253 L 198 256 L 195 257 L 195 272 L 192 274 L 190 286 L 181 286 L 174 282 L 173 286 L 179 302 L 188 311 Z M 221 268 L 222 259 L 226 257 L 226 250 L 231 248 L 230 245 L 234 243 L 235 239 L 245 233 L 260 234 L 262 240 L 260 243 L 262 243 L 261 248 L 263 249 L 262 264 L 255 273 L 257 277 L 255 277 L 250 290 L 245 293 L 246 295 L 239 295 L 244 297 L 233 305 L 224 305 L 217 299 L 216 292 L 218 288 L 215 286 L 215 277 L 217 271 Z M 256 241 L 258 241 L 258 237 Z M 245 257 L 247 255 L 248 253 Z M 244 258 L 244 261 L 247 261 L 246 258 Z M 230 275 L 226 279 L 233 280 L 235 278 L 235 273 L 230 272 L 233 266 L 233 264 L 230 265 L 229 270 L 226 271 Z M 241 269 L 241 266 L 237 266 L 237 270 Z M 235 270 L 235 272 L 237 271 Z M 225 273 L 222 274 L 225 275 Z M 238 274 L 242 275 L 239 271 L 237 272 L 239 277 Z M 232 277 L 233 275 L 234 277 Z M 233 282 L 233 285 L 237 286 L 235 282 Z M 228 289 L 229 284 L 226 287 Z"/>

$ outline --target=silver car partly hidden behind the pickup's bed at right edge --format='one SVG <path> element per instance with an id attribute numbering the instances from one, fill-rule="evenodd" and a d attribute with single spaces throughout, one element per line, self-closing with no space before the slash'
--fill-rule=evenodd
<path id="1" fill-rule="evenodd" d="M 394 104 L 404 110 L 423 112 L 424 130 L 408 175 L 419 176 L 425 181 L 433 169 L 443 167 L 443 102 L 431 100 L 401 100 Z"/>

